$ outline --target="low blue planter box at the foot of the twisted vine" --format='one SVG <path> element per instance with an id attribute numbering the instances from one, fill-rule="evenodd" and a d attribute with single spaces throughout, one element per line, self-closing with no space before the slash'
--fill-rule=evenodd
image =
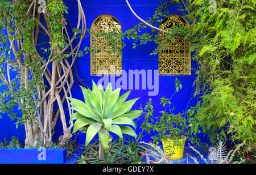
<path id="1" fill-rule="evenodd" d="M 0 149 L 0 164 L 63 164 L 66 149 Z"/>

